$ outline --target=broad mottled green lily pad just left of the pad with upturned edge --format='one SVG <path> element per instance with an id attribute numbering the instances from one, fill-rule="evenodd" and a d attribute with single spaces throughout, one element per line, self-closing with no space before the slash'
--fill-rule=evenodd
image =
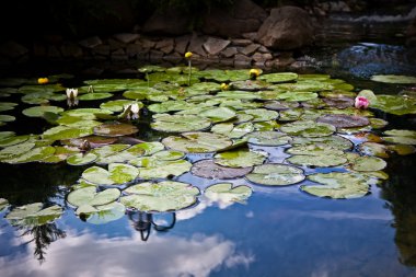
<path id="1" fill-rule="evenodd" d="M 208 153 L 230 147 L 230 138 L 210 132 L 184 132 L 180 136 L 170 136 L 162 140 L 162 143 L 173 150 L 185 153 Z"/>

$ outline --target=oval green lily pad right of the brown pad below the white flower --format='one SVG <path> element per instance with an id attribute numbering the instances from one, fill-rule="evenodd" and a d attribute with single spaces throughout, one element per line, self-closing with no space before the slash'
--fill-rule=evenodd
<path id="1" fill-rule="evenodd" d="M 209 119 L 196 115 L 158 114 L 153 118 L 155 122 L 150 124 L 152 129 L 167 132 L 201 130 L 211 125 Z"/>

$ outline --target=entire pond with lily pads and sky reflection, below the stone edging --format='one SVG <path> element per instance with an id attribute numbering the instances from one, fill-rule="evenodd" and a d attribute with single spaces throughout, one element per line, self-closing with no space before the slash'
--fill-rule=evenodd
<path id="1" fill-rule="evenodd" d="M 355 66 L 12 72 L 1 276 L 416 276 L 415 71 Z"/>

